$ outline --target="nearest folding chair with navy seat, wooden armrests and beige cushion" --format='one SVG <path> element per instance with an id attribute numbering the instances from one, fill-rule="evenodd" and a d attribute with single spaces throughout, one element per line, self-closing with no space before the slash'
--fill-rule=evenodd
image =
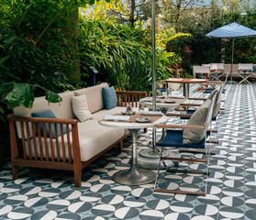
<path id="1" fill-rule="evenodd" d="M 211 119 L 213 115 L 213 108 L 217 98 L 217 93 L 214 94 L 212 100 L 207 100 L 204 104 L 198 107 L 195 113 L 191 116 L 186 125 L 168 125 L 168 124 L 157 124 L 156 128 L 167 128 L 165 133 L 165 137 L 161 138 L 161 142 L 157 142 L 156 146 L 161 148 L 161 154 L 163 152 L 163 148 L 200 148 L 206 150 L 206 159 L 195 159 L 195 158 L 187 158 L 187 157 L 177 157 L 178 154 L 174 157 L 160 157 L 159 169 L 157 174 L 157 179 L 155 183 L 154 192 L 167 192 L 174 194 L 194 194 L 194 195 L 206 195 L 205 192 L 199 191 L 182 191 L 182 190 L 173 190 L 173 189 L 161 189 L 159 186 L 159 170 L 161 167 L 161 161 L 164 164 L 165 160 L 173 160 L 173 161 L 185 161 L 192 163 L 206 163 L 206 170 L 181 170 L 179 166 L 177 169 L 169 169 L 166 167 L 167 172 L 184 172 L 184 173 L 194 173 L 194 174 L 208 174 L 208 164 L 209 164 L 209 151 L 210 151 L 210 143 L 206 143 L 206 137 L 210 136 L 210 132 L 206 132 L 210 127 Z M 210 137 L 211 138 L 211 137 Z M 160 155 L 161 156 L 161 155 Z"/>

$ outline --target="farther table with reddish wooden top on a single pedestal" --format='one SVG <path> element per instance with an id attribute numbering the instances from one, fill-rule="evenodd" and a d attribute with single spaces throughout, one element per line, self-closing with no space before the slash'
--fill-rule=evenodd
<path id="1" fill-rule="evenodd" d="M 207 81 L 206 79 L 191 79 L 191 78 L 170 78 L 170 79 L 165 80 L 167 88 L 168 88 L 168 82 L 183 83 L 185 98 L 189 97 L 189 84 L 190 83 L 203 83 L 206 81 Z"/>

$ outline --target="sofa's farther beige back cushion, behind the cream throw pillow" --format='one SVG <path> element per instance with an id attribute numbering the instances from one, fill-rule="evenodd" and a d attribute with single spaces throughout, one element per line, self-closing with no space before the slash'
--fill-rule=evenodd
<path id="1" fill-rule="evenodd" d="M 93 114 L 95 112 L 100 111 L 101 109 L 104 109 L 104 102 L 102 97 L 103 87 L 109 87 L 109 86 L 106 82 L 103 82 L 99 85 L 87 87 L 81 90 L 76 90 L 74 92 L 74 95 L 79 96 L 79 95 L 85 94 L 89 111 L 90 113 Z"/>

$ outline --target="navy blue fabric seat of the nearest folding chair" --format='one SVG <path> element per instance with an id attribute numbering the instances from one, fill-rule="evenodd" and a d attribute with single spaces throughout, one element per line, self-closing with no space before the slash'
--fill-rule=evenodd
<path id="1" fill-rule="evenodd" d="M 175 148 L 205 148 L 204 137 L 199 144 L 183 144 L 183 130 L 167 130 L 166 137 L 161 143 L 156 143 L 158 147 L 175 147 Z"/>

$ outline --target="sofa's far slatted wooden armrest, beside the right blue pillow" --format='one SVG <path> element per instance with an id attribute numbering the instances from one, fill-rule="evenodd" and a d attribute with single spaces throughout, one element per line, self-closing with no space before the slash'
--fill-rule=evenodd
<path id="1" fill-rule="evenodd" d="M 117 106 L 127 106 L 132 104 L 132 107 L 138 107 L 139 99 L 147 97 L 147 92 L 139 91 L 117 91 Z"/>

